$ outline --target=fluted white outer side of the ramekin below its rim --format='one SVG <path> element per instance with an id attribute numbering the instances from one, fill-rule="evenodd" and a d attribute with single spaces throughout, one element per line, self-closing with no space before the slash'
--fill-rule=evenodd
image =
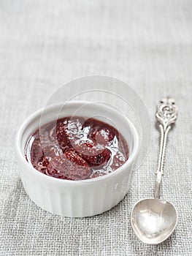
<path id="1" fill-rule="evenodd" d="M 82 184 L 76 189 L 63 186 L 50 187 L 39 184 L 36 177 L 28 178 L 20 172 L 26 193 L 37 206 L 45 211 L 65 217 L 88 217 L 110 210 L 125 197 L 131 179 L 131 171 L 122 181 L 115 183 L 86 186 Z"/>

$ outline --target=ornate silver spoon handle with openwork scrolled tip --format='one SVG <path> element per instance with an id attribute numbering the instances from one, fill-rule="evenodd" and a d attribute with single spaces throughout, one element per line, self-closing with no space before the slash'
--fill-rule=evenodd
<path id="1" fill-rule="evenodd" d="M 166 97 L 161 99 L 161 102 L 157 106 L 156 118 L 160 123 L 161 143 L 158 158 L 158 170 L 156 171 L 157 178 L 155 184 L 155 198 L 159 198 L 160 196 L 161 178 L 164 175 L 164 158 L 167 135 L 169 130 L 172 128 L 172 124 L 174 124 L 177 119 L 177 107 L 174 105 L 174 102 L 174 99 Z"/>

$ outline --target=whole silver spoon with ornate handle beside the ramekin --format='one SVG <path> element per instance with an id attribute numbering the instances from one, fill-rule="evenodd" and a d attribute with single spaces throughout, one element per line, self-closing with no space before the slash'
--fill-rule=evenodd
<path id="1" fill-rule="evenodd" d="M 161 178 L 164 175 L 166 138 L 177 118 L 174 99 L 164 98 L 158 104 L 156 118 L 161 129 L 161 145 L 156 172 L 155 198 L 139 200 L 131 212 L 131 225 L 138 238 L 145 244 L 160 244 L 177 225 L 177 210 L 172 203 L 159 199 Z"/>

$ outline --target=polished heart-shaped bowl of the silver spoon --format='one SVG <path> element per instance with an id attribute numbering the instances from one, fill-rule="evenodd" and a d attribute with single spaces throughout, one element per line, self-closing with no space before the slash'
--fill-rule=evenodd
<path id="1" fill-rule="evenodd" d="M 158 198 L 139 200 L 131 213 L 131 225 L 145 244 L 160 244 L 177 225 L 177 210 L 172 203 Z"/>

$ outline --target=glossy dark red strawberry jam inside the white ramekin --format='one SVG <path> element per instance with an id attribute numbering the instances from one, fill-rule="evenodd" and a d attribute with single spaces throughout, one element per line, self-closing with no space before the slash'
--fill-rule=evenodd
<path id="1" fill-rule="evenodd" d="M 123 135 L 110 124 L 69 116 L 37 129 L 25 154 L 39 172 L 76 181 L 111 173 L 126 162 L 129 151 Z"/>

